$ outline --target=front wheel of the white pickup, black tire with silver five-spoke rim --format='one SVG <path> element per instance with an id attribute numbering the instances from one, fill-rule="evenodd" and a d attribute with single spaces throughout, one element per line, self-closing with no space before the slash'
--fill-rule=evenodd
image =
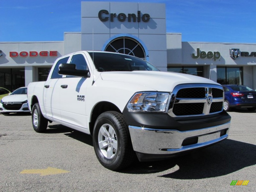
<path id="1" fill-rule="evenodd" d="M 123 169 L 134 161 L 130 133 L 121 113 L 107 111 L 97 118 L 93 147 L 99 162 L 107 169 Z"/>

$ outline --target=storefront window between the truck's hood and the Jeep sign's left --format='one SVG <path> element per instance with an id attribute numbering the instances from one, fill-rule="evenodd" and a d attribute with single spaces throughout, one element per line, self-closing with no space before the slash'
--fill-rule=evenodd
<path id="1" fill-rule="evenodd" d="M 168 67 L 167 71 L 176 72 L 176 73 L 185 73 L 190 75 L 195 75 L 199 77 L 204 77 L 204 67 L 196 66 L 196 67 Z"/>

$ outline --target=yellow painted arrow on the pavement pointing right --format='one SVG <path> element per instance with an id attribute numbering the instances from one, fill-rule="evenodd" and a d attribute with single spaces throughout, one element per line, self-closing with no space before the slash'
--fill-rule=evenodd
<path id="1" fill-rule="evenodd" d="M 48 167 L 47 169 L 24 169 L 20 174 L 41 174 L 40 176 L 46 176 L 69 172 L 63 169 Z"/>

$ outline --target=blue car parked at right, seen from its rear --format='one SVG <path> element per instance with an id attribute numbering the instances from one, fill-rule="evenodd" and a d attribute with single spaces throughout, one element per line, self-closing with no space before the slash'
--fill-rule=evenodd
<path id="1" fill-rule="evenodd" d="M 249 111 L 256 109 L 256 91 L 243 85 L 222 85 L 224 88 L 224 110 L 246 107 Z"/>

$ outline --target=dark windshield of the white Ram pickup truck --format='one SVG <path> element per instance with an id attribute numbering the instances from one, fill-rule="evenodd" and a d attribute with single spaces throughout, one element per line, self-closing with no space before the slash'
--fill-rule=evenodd
<path id="1" fill-rule="evenodd" d="M 151 63 L 130 55 L 112 54 L 108 52 L 89 53 L 95 68 L 104 71 L 159 71 Z"/>

